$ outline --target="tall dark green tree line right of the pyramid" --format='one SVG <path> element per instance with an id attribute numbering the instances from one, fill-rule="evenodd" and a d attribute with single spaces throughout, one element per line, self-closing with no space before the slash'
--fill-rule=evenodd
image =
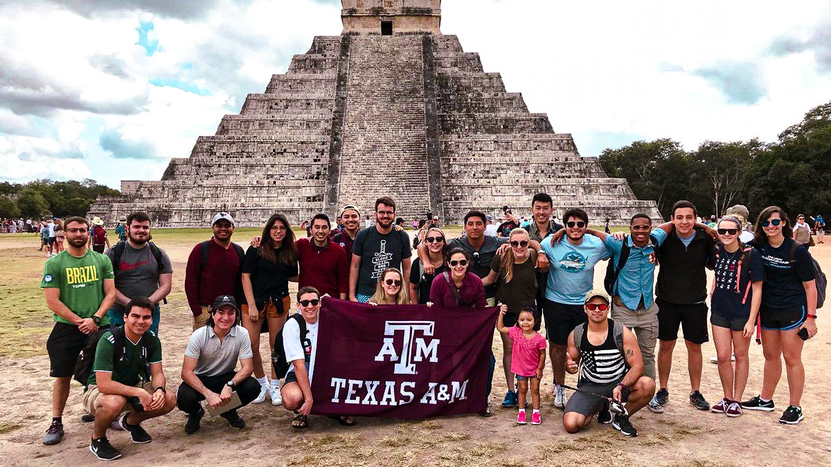
<path id="1" fill-rule="evenodd" d="M 793 217 L 831 214 L 831 102 L 778 138 L 705 141 L 691 151 L 668 138 L 635 141 L 603 150 L 600 165 L 627 179 L 638 199 L 654 199 L 665 219 L 679 199 L 716 216 L 733 204 L 745 204 L 751 218 L 770 205 Z"/>

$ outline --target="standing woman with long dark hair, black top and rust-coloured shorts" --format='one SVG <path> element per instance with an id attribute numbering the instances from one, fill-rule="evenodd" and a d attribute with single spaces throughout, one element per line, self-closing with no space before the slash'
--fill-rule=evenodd
<path id="1" fill-rule="evenodd" d="M 283 403 L 280 396 L 280 378 L 283 375 L 275 375 L 272 368 L 269 385 L 263 357 L 259 353 L 259 335 L 263 332 L 263 322 L 266 322 L 269 348 L 273 350 L 274 338 L 283 329 L 288 310 L 292 307 L 288 281 L 296 278 L 297 272 L 297 247 L 291 224 L 283 214 L 274 214 L 263 228 L 259 246 L 248 247 L 243 259 L 243 292 L 248 304 L 242 305 L 241 314 L 243 327 L 251 338 L 254 377 L 262 387 L 253 404 L 265 401 L 269 393 L 273 405 Z"/>

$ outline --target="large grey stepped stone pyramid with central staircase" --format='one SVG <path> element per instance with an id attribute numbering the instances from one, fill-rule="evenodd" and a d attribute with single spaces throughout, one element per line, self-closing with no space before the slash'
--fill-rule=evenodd
<path id="1" fill-rule="evenodd" d="M 315 37 L 160 181 L 122 181 L 122 196 L 97 199 L 90 215 L 111 223 L 143 210 L 157 227 L 193 227 L 228 211 L 259 226 L 274 213 L 299 223 L 345 204 L 367 213 L 390 195 L 405 219 L 430 210 L 461 224 L 470 209 L 527 212 L 546 192 L 555 214 L 581 207 L 598 224 L 661 218 L 442 34 L 440 3 L 342 0 L 340 36 Z"/>

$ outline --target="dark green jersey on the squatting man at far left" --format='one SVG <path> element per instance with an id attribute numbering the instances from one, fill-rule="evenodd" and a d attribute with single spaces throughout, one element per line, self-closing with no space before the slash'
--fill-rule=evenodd
<path id="1" fill-rule="evenodd" d="M 161 342 L 159 337 L 152 331 L 146 332 L 145 339 L 153 339 L 153 354 L 148 356 L 147 363 L 158 363 L 161 361 Z M 112 381 L 120 382 L 126 386 L 135 386 L 141 381 L 141 376 L 145 374 L 145 365 L 141 361 L 141 344 L 135 344 L 130 341 L 129 337 L 124 337 L 125 352 L 117 365 L 113 364 L 112 358 L 116 355 L 116 338 L 112 337 L 112 332 L 105 332 L 101 335 L 101 341 L 98 341 L 96 347 L 96 359 L 92 362 L 92 372 L 90 379 L 86 384 L 96 384 L 96 371 L 106 371 L 112 373 Z"/>

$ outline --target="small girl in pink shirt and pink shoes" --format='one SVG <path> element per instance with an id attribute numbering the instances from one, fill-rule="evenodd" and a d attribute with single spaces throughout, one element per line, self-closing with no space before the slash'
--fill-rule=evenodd
<path id="1" fill-rule="evenodd" d="M 543 377 L 545 367 L 545 337 L 534 331 L 534 309 L 524 307 L 519 311 L 517 324 L 514 327 L 505 327 L 504 314 L 508 306 L 499 308 L 499 320 L 496 327 L 499 332 L 508 334 L 513 339 L 513 353 L 511 354 L 511 372 L 516 375 L 519 383 L 519 414 L 517 423 L 527 423 L 525 415 L 525 394 L 531 382 L 531 401 L 534 413 L 531 414 L 531 425 L 539 425 L 542 420 L 539 415 L 539 381 Z"/>

